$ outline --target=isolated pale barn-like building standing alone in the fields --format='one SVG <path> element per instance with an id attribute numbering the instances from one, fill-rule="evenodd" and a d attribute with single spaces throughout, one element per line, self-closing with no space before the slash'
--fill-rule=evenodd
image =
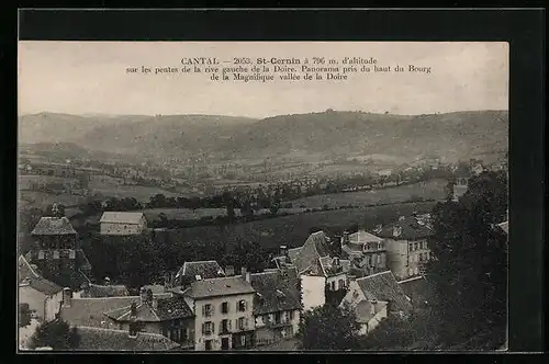
<path id="1" fill-rule="evenodd" d="M 135 212 L 104 212 L 101 216 L 101 235 L 141 235 L 147 227 L 145 214 Z"/>

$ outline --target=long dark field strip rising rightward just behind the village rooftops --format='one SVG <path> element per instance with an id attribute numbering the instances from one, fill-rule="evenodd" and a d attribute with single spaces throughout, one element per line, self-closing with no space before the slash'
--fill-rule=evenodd
<path id="1" fill-rule="evenodd" d="M 327 231 L 343 230 L 352 225 L 365 225 L 372 228 L 376 224 L 389 224 L 401 215 L 428 213 L 434 202 L 405 203 L 388 206 L 360 207 L 317 213 L 303 213 L 246 224 L 226 226 L 199 226 L 177 229 L 169 232 L 169 240 L 173 243 L 190 244 L 224 240 L 228 244 L 239 239 L 258 241 L 266 250 L 274 250 L 281 244 L 290 248 L 301 247 L 310 235 L 311 229 L 326 229 Z M 182 262 L 181 262 L 182 264 Z"/>

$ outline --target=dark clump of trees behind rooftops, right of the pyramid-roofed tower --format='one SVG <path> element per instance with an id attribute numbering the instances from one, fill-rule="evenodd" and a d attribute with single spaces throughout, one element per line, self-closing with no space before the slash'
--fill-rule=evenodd
<path id="1" fill-rule="evenodd" d="M 130 287 L 163 283 L 166 272 L 178 271 L 186 261 L 216 260 L 222 266 L 246 266 L 258 272 L 269 260 L 257 241 L 181 242 L 170 231 L 153 236 L 93 237 L 82 241 L 82 249 L 96 280 L 109 276 Z"/>

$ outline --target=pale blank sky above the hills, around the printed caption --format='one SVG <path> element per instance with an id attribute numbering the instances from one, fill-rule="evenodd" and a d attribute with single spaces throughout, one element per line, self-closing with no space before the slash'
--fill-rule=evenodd
<path id="1" fill-rule="evenodd" d="M 430 73 L 349 73 L 345 81 L 212 81 L 197 73 L 132 75 L 182 57 L 373 57 Z M 507 43 L 19 42 L 19 112 L 267 117 L 363 111 L 428 114 L 508 109 Z M 227 66 L 227 64 L 223 64 Z M 339 65 L 341 66 L 341 65 Z"/>

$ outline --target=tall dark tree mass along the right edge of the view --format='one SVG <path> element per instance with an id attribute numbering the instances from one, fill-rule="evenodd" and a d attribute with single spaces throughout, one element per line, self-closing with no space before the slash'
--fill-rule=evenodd
<path id="1" fill-rule="evenodd" d="M 493 224 L 504 219 L 506 192 L 504 173 L 482 173 L 459 202 L 433 211 L 435 259 L 427 273 L 438 293 L 435 311 L 446 344 L 480 331 L 504 332 L 507 241 Z"/>

